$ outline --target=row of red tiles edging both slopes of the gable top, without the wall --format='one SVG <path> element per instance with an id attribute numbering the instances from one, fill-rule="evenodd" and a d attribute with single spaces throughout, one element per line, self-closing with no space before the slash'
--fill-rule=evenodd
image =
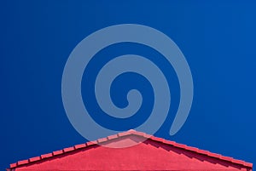
<path id="1" fill-rule="evenodd" d="M 120 137 L 125 137 L 127 135 L 141 136 L 141 137 L 146 138 L 148 140 L 154 140 L 156 142 L 159 142 L 159 143 L 162 143 L 162 144 L 165 144 L 165 145 L 172 145 L 174 147 L 177 147 L 179 149 L 183 149 L 185 151 L 192 151 L 192 152 L 195 152 L 197 154 L 201 154 L 203 156 L 216 158 L 216 159 L 221 160 L 221 161 L 231 162 L 233 164 L 238 164 L 238 165 L 241 165 L 243 167 L 253 169 L 253 163 L 245 162 L 245 161 L 242 161 L 242 160 L 237 160 L 237 159 L 234 159 L 232 157 L 224 157 L 224 156 L 222 156 L 220 154 L 217 154 L 217 153 L 200 150 L 198 148 L 188 146 L 188 145 L 179 144 L 179 143 L 176 143 L 176 142 L 171 141 L 171 140 L 165 140 L 165 139 L 162 139 L 162 138 L 154 137 L 153 135 L 145 134 L 143 132 L 138 132 L 138 131 L 135 131 L 133 129 L 131 129 L 129 131 L 126 131 L 126 132 L 123 132 L 123 133 L 113 134 L 113 135 L 110 135 L 106 138 L 102 138 L 102 139 L 86 142 L 84 144 L 74 145 L 72 147 L 64 148 L 60 151 L 53 151 L 51 153 L 44 154 L 44 155 L 41 155 L 39 157 L 32 157 L 32 158 L 29 158 L 29 159 L 26 159 L 26 160 L 21 160 L 19 162 L 15 162 L 15 163 L 10 164 L 9 167 L 10 167 L 10 169 L 11 168 L 17 168 L 17 167 L 20 167 L 20 166 L 31 164 L 32 162 L 38 162 L 38 161 L 41 161 L 41 160 L 44 160 L 44 159 L 47 159 L 47 158 L 50 158 L 50 157 L 56 157 L 56 156 L 59 156 L 59 155 L 63 155 L 67 152 L 77 151 L 77 150 L 80 150 L 80 149 L 87 148 L 91 145 L 97 145 L 97 144 L 100 144 L 100 143 L 103 143 L 103 142 L 107 142 L 108 140 L 115 140 L 115 139 L 118 139 Z"/>

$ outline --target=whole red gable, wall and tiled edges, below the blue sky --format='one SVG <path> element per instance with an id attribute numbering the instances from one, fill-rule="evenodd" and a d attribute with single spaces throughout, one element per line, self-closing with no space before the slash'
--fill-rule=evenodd
<path id="1" fill-rule="evenodd" d="M 145 140 L 148 139 L 148 140 Z M 143 141 L 145 140 L 145 141 Z M 126 148 L 123 145 L 142 142 Z M 130 130 L 10 164 L 7 170 L 252 170 L 253 164 Z"/>

